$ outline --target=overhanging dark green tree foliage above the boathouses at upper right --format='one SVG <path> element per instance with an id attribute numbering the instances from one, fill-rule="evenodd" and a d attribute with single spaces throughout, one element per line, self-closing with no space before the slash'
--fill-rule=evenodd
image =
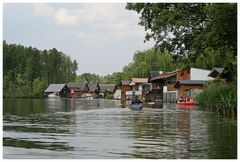
<path id="1" fill-rule="evenodd" d="M 208 69 L 221 66 L 236 76 L 237 3 L 128 3 L 126 9 L 140 14 L 145 41 L 153 39 L 158 49 L 174 55 L 175 62 Z M 226 63 L 220 64 L 217 57 Z"/>

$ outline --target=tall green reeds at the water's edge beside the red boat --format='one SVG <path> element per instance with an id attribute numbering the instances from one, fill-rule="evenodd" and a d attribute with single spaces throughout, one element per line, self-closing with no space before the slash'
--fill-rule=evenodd
<path id="1" fill-rule="evenodd" d="M 197 103 L 226 116 L 237 115 L 237 81 L 227 84 L 222 80 L 210 81 L 196 97 Z"/>

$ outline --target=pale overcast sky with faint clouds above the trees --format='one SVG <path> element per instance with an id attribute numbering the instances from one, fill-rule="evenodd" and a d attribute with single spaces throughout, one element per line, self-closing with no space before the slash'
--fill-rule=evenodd
<path id="1" fill-rule="evenodd" d="M 3 5 L 3 39 L 38 49 L 56 48 L 78 62 L 77 74 L 122 71 L 144 43 L 138 15 L 121 3 Z"/>

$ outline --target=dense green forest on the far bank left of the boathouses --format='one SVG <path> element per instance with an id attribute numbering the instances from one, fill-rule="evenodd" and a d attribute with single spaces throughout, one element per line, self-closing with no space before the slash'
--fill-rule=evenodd
<path id="1" fill-rule="evenodd" d="M 38 50 L 3 42 L 3 96 L 41 97 L 51 83 L 76 78 L 77 61 L 53 48 Z"/>

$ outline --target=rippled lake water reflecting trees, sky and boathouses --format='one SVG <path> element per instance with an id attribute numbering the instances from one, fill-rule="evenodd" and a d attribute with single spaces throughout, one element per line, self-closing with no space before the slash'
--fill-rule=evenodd
<path id="1" fill-rule="evenodd" d="M 3 99 L 4 159 L 236 159 L 237 120 L 199 107 Z"/>

